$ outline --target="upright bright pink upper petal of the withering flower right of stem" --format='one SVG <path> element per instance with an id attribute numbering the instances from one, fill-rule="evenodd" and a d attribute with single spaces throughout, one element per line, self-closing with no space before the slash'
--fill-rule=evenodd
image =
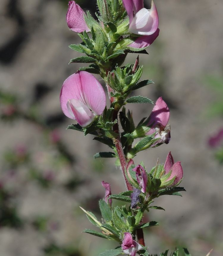
<path id="1" fill-rule="evenodd" d="M 150 114 L 150 119 L 147 126 L 152 125 L 152 128 L 156 125 L 162 125 L 165 127 L 169 121 L 169 108 L 167 107 L 166 102 L 159 97 L 156 101 L 155 106 Z"/>

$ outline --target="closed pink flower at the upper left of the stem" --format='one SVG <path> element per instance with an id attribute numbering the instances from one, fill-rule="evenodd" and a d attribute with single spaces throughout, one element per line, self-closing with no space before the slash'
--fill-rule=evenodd
<path id="1" fill-rule="evenodd" d="M 77 33 L 81 33 L 84 30 L 86 30 L 86 32 L 90 31 L 84 20 L 84 11 L 75 1 L 69 1 L 66 18 L 67 26 L 70 30 Z"/>

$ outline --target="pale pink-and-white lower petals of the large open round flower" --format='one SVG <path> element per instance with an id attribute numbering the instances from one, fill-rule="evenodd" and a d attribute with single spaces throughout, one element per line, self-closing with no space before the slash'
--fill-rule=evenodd
<path id="1" fill-rule="evenodd" d="M 67 110 L 71 116 L 73 115 L 72 119 L 76 119 L 82 127 L 89 125 L 95 119 L 95 114 L 83 102 L 76 99 L 67 101 Z"/>

